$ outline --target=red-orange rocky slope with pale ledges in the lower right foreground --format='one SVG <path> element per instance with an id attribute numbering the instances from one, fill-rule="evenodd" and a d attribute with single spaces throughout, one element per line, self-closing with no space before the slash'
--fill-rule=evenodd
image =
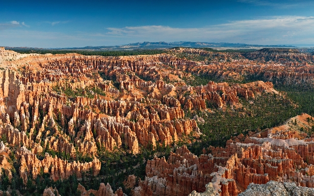
<path id="1" fill-rule="evenodd" d="M 246 137 L 240 135 L 228 141 L 225 148 L 204 149 L 211 153 L 199 157 L 186 147 L 180 147 L 167 160 L 155 158 L 148 161 L 147 177 L 133 188 L 132 193 L 134 196 L 182 196 L 189 193 L 190 196 L 237 196 L 247 189 L 241 194 L 247 196 L 253 192 L 262 194 L 261 190 L 268 187 L 283 196 L 303 189 L 311 195 L 314 190 L 299 187 L 314 187 L 313 139 L 304 138 L 296 129 L 291 129 L 292 126 L 314 124 L 313 121 L 307 123 L 306 119 L 312 117 L 303 114 L 280 127 L 250 133 Z M 132 179 L 129 176 L 126 184 L 132 184 Z M 263 187 L 251 183 L 267 184 Z"/>

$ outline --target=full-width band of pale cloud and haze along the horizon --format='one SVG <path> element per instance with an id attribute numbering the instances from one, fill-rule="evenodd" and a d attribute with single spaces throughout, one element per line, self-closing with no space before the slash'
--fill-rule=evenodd
<path id="1" fill-rule="evenodd" d="M 52 23 L 50 23 L 52 24 Z M 103 32 L 27 31 L 20 25 L 0 24 L 0 45 L 42 48 L 113 46 L 144 41 L 229 42 L 260 45 L 314 44 L 314 17 L 286 16 L 231 21 L 203 28 L 162 25 L 110 27 Z M 25 24 L 24 24 L 25 25 Z"/>

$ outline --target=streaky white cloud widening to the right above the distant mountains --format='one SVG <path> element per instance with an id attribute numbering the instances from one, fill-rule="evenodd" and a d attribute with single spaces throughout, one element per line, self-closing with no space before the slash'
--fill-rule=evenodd
<path id="1" fill-rule="evenodd" d="M 271 17 L 267 19 L 232 21 L 204 28 L 170 26 L 126 26 L 107 28 L 103 36 L 139 41 L 208 41 L 251 44 L 314 43 L 314 17 Z"/>

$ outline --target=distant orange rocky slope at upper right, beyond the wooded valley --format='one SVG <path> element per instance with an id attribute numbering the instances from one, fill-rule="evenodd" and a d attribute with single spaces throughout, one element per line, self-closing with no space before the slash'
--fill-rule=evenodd
<path id="1" fill-rule="evenodd" d="M 314 55 L 296 49 L 260 49 L 248 53 L 171 49 L 170 53 L 197 61 L 193 66 L 179 65 L 181 70 L 218 80 L 314 84 Z"/>

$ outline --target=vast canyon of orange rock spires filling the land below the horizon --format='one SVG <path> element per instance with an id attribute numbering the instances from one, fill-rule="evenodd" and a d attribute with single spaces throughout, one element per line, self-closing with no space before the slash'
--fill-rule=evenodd
<path id="1" fill-rule="evenodd" d="M 253 74 L 258 80 L 243 80 Z M 199 75 L 218 79 L 191 85 Z M 274 84 L 313 81 L 314 56 L 294 49 L 241 54 L 180 48 L 114 57 L 0 48 L 0 175 L 12 183 L 17 174 L 25 186 L 45 175 L 53 182 L 75 175 L 81 196 L 125 196 L 127 189 L 132 196 L 246 196 L 257 184 L 269 183 L 287 193 L 308 187 L 310 194 L 314 138 L 305 130 L 314 121 L 308 114 L 236 134 L 225 147 L 203 148 L 200 155 L 188 147 L 204 137 L 205 112 L 243 108 L 249 113 L 244 102 L 285 96 Z M 143 179 L 129 175 L 124 187 L 103 182 L 108 162 L 103 153 L 122 149 L 124 155 L 140 156 L 145 147 L 171 152 L 167 158 L 158 153 L 143 158 Z M 99 188 L 86 189 L 86 176 L 99 180 Z M 59 192 L 47 186 L 38 194 Z"/>

